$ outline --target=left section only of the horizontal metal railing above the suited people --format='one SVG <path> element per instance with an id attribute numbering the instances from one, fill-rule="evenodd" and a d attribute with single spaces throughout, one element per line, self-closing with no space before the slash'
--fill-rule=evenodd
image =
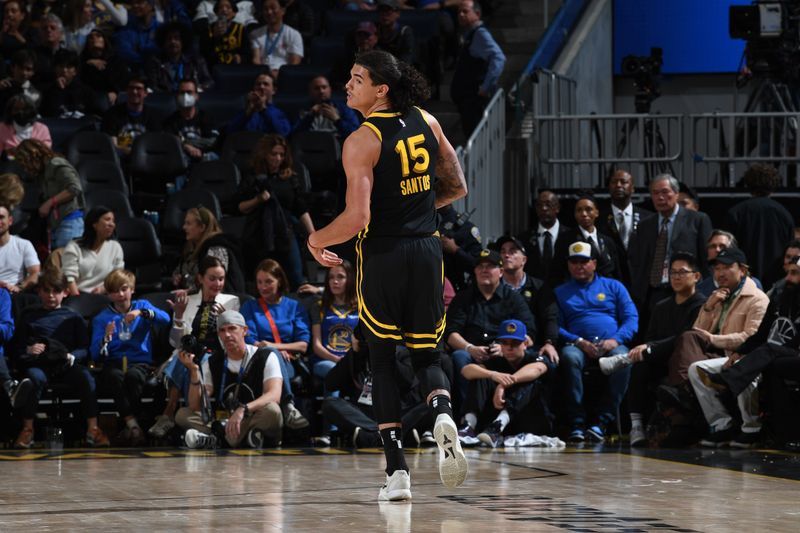
<path id="1" fill-rule="evenodd" d="M 534 180 L 555 188 L 603 187 L 614 165 L 637 185 L 661 172 L 678 175 L 683 115 L 533 117 Z"/>

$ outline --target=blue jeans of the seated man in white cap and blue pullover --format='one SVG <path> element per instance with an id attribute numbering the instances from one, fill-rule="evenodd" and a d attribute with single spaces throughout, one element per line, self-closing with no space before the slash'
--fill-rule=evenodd
<path id="1" fill-rule="evenodd" d="M 628 352 L 628 348 L 619 345 L 604 357 Z M 573 428 L 580 428 L 586 422 L 586 415 L 583 410 L 583 369 L 586 367 L 587 356 L 576 346 L 565 346 L 561 351 L 560 367 L 565 377 L 565 407 L 569 423 Z M 598 373 L 599 375 L 599 373 Z M 605 391 L 597 402 L 595 409 L 597 419 L 602 424 L 609 424 L 617 416 L 617 408 L 625 391 L 628 388 L 628 380 L 631 376 L 631 367 L 617 370 L 606 379 Z"/>

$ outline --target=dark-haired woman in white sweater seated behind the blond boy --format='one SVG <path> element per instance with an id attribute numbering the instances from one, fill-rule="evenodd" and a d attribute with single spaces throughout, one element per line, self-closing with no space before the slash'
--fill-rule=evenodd
<path id="1" fill-rule="evenodd" d="M 80 239 L 70 241 L 61 255 L 61 271 L 67 277 L 69 294 L 104 294 L 105 279 L 112 270 L 125 268 L 122 246 L 114 239 L 114 212 L 105 206 L 86 215 Z"/>

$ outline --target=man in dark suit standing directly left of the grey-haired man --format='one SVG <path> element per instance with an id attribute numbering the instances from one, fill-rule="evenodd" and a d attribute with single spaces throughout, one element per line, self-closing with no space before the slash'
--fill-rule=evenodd
<path id="1" fill-rule="evenodd" d="M 608 192 L 611 195 L 611 209 L 604 211 L 597 219 L 597 228 L 600 233 L 608 235 L 614 241 L 619 261 L 620 281 L 630 287 L 628 247 L 632 237 L 639 232 L 641 223 L 654 213 L 631 202 L 633 177 L 627 170 L 614 171 L 608 180 Z"/>

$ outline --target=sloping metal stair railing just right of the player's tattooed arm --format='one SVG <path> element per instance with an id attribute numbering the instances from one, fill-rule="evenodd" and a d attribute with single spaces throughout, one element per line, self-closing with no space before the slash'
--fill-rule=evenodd
<path id="1" fill-rule="evenodd" d="M 469 194 L 454 207 L 462 212 L 475 209 L 471 221 L 480 228 L 484 245 L 504 231 L 505 147 L 505 92 L 499 89 L 467 144 L 456 150 Z"/>

